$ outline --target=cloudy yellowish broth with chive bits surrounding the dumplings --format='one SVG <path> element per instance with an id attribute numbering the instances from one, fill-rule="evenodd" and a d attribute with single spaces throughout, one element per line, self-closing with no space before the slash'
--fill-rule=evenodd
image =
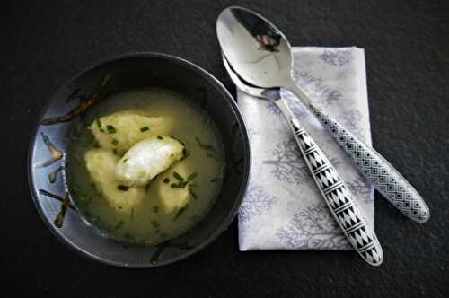
<path id="1" fill-rule="evenodd" d="M 140 110 L 145 116 L 173 119 L 171 135 L 185 145 L 189 152 L 186 161 L 198 172 L 191 188 L 195 198 L 189 200 L 180 215 L 162 212 L 154 180 L 146 186 L 145 199 L 132 214 L 117 212 L 91 180 L 84 154 L 98 145 L 87 127 L 95 118 L 119 110 Z M 205 144 L 210 145 L 209 149 L 205 149 Z M 214 121 L 183 95 L 163 89 L 121 92 L 99 102 L 74 128 L 67 147 L 66 179 L 75 205 L 103 235 L 130 243 L 155 245 L 190 230 L 213 206 L 224 177 L 224 145 Z"/>

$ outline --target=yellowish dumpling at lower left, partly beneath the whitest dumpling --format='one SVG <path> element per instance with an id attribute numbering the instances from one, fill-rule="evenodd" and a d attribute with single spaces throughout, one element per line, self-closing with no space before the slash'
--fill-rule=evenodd
<path id="1" fill-rule="evenodd" d="M 123 188 L 115 178 L 115 167 L 119 162 L 110 150 L 93 148 L 84 155 L 87 171 L 109 205 L 119 213 L 130 213 L 145 197 L 145 188 Z M 120 190 L 121 189 L 121 190 Z"/>

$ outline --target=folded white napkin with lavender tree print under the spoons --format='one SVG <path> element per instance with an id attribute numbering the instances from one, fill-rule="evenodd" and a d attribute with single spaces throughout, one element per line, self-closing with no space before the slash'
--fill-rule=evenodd
<path id="1" fill-rule="evenodd" d="M 294 48 L 294 77 L 313 102 L 371 145 L 362 48 Z M 374 226 L 374 191 L 330 134 L 282 90 Z M 274 103 L 237 92 L 251 140 L 251 180 L 239 211 L 240 250 L 350 250 Z"/>

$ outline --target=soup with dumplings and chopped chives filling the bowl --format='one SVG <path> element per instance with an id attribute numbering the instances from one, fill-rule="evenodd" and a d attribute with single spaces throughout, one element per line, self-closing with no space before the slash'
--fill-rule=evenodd
<path id="1" fill-rule="evenodd" d="M 119 241 L 154 245 L 187 232 L 214 204 L 224 171 L 215 123 L 168 90 L 111 96 L 68 138 L 69 192 L 88 222 Z"/>

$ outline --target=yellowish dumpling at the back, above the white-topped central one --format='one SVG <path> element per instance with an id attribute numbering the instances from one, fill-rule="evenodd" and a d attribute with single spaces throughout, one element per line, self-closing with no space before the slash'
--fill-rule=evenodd
<path id="1" fill-rule="evenodd" d="M 139 110 L 121 110 L 95 119 L 89 129 L 101 148 L 124 153 L 147 137 L 169 135 L 172 121 L 141 115 Z"/>

